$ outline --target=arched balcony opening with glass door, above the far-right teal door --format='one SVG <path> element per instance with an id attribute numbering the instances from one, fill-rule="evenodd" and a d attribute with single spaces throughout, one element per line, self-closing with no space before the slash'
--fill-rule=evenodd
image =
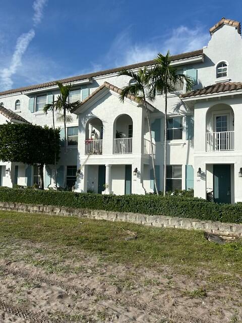
<path id="1" fill-rule="evenodd" d="M 234 113 L 228 104 L 215 104 L 206 114 L 206 151 L 234 150 Z"/>

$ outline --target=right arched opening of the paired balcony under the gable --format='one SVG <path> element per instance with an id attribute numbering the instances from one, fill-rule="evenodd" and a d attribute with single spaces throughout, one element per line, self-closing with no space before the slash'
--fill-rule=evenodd
<path id="1" fill-rule="evenodd" d="M 133 152 L 133 120 L 128 115 L 116 118 L 113 124 L 113 153 Z"/>

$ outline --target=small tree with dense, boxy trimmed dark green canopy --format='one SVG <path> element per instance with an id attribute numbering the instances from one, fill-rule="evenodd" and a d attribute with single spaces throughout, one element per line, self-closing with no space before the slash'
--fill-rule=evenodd
<path id="1" fill-rule="evenodd" d="M 37 165 L 41 189 L 44 189 L 43 167 L 53 165 L 55 157 L 59 159 L 59 151 L 59 129 L 31 124 L 0 125 L 0 160 Z"/>

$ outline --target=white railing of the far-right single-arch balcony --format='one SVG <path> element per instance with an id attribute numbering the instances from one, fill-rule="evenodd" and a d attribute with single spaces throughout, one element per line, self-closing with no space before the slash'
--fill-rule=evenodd
<path id="1" fill-rule="evenodd" d="M 234 132 L 207 132 L 206 151 L 234 150 Z"/>

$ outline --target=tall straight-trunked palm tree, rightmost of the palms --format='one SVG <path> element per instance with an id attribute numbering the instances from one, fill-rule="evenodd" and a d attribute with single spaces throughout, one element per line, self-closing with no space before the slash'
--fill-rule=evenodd
<path id="1" fill-rule="evenodd" d="M 158 53 L 155 58 L 155 67 L 152 70 L 152 87 L 150 92 L 155 96 L 156 92 L 165 95 L 165 118 L 164 118 L 164 185 L 163 195 L 166 192 L 166 141 L 167 141 L 167 93 L 174 92 L 178 84 L 186 82 L 187 89 L 191 89 L 194 81 L 187 75 L 178 73 L 178 69 L 171 65 L 171 56 L 169 50 L 163 56 Z"/>

